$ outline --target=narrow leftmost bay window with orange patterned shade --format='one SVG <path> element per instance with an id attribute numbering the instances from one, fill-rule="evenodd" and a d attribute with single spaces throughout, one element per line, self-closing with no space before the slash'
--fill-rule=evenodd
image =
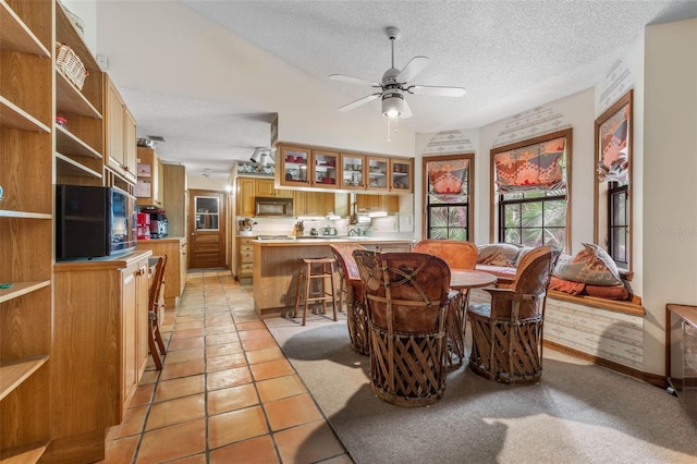
<path id="1" fill-rule="evenodd" d="M 427 239 L 473 241 L 474 154 L 424 158 Z"/>

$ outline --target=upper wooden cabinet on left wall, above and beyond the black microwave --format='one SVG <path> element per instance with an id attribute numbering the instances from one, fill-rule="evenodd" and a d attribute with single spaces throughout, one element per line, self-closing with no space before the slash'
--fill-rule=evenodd
<path id="1" fill-rule="evenodd" d="M 114 83 L 105 74 L 106 163 L 127 182 L 136 182 L 135 121 Z"/>

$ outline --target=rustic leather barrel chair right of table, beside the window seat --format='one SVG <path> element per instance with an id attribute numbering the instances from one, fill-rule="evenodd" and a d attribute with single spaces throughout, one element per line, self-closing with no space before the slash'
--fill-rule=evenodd
<path id="1" fill-rule="evenodd" d="M 473 304 L 469 368 L 502 383 L 535 383 L 542 376 L 542 328 L 547 290 L 559 253 L 527 253 L 510 288 L 487 288 L 491 303 Z"/>

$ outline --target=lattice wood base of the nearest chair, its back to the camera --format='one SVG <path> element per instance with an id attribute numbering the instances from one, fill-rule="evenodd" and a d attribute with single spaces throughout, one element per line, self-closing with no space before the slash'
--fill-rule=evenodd
<path id="1" fill-rule="evenodd" d="M 445 391 L 447 369 L 441 332 L 388 333 L 374 325 L 370 335 L 370 380 L 382 401 L 398 406 L 427 406 Z"/>

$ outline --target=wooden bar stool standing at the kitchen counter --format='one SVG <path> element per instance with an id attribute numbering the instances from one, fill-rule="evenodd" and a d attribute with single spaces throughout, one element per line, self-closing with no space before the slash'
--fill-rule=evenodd
<path id="1" fill-rule="evenodd" d="M 331 301 L 334 312 L 334 320 L 337 318 L 337 285 L 334 283 L 334 258 L 301 258 L 301 270 L 297 277 L 297 290 L 295 292 L 295 309 L 293 317 L 297 317 L 297 308 L 299 307 L 301 297 L 305 300 L 303 304 L 303 326 L 307 318 L 307 307 L 309 303 L 321 302 L 322 313 L 327 313 L 327 302 Z M 310 283 L 313 279 L 319 279 L 319 292 L 310 293 Z M 330 290 L 327 290 L 327 281 L 330 283 Z M 305 292 L 301 294 L 301 291 Z"/>

